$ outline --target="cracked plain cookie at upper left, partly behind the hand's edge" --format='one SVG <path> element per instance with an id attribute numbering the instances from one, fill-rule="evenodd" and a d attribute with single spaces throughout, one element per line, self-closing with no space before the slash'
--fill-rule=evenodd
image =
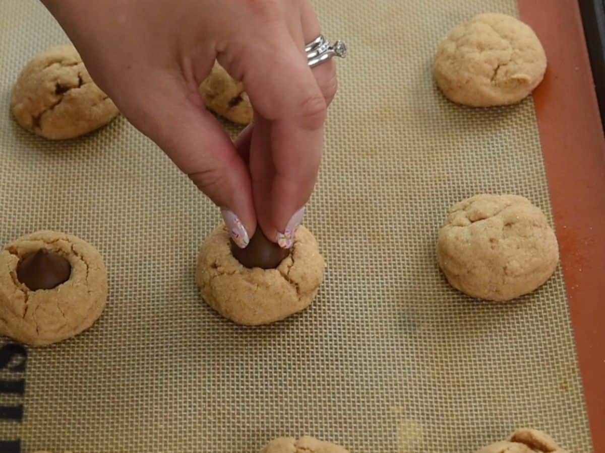
<path id="1" fill-rule="evenodd" d="M 118 114 L 70 45 L 51 47 L 25 66 L 13 88 L 11 110 L 24 129 L 51 140 L 92 132 Z"/>

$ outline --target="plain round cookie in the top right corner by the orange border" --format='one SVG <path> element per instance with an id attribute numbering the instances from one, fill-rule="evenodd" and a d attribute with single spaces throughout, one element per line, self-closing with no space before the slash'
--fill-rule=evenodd
<path id="1" fill-rule="evenodd" d="M 546 54 L 534 31 L 506 14 L 479 14 L 454 28 L 433 66 L 443 94 L 474 107 L 522 100 L 545 71 Z"/>

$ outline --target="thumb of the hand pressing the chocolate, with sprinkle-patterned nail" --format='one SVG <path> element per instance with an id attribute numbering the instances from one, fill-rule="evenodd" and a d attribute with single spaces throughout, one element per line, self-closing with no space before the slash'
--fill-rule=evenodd
<path id="1" fill-rule="evenodd" d="M 132 123 L 221 208 L 232 239 L 244 248 L 257 221 L 250 175 L 231 138 L 204 108 L 197 91 L 163 92 L 152 108 L 145 120 L 135 115 Z"/>

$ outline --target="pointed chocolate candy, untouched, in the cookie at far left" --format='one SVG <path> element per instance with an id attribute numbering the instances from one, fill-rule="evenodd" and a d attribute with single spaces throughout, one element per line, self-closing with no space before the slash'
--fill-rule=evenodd
<path id="1" fill-rule="evenodd" d="M 53 289 L 69 280 L 70 275 L 70 262 L 44 248 L 27 255 L 17 266 L 17 278 L 31 291 Z"/>

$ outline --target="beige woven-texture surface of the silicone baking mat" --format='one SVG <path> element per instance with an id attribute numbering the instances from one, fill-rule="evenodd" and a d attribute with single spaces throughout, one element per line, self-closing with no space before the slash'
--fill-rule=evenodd
<path id="1" fill-rule="evenodd" d="M 310 434 L 353 453 L 457 453 L 534 426 L 592 450 L 561 272 L 485 303 L 451 289 L 435 260 L 448 207 L 473 194 L 523 194 L 550 217 L 531 99 L 461 108 L 431 80 L 448 28 L 517 14 L 514 0 L 316 7 L 350 47 L 306 217 L 329 267 L 309 310 L 243 328 L 194 282 L 218 210 L 154 144 L 123 118 L 57 143 L 10 118 L 19 70 L 65 37 L 38 1 L 1 1 L 0 241 L 83 237 L 111 289 L 91 330 L 30 349 L 24 399 L 0 400 L 22 400 L 24 421 L 0 421 L 0 439 L 26 452 L 252 453 Z"/>

